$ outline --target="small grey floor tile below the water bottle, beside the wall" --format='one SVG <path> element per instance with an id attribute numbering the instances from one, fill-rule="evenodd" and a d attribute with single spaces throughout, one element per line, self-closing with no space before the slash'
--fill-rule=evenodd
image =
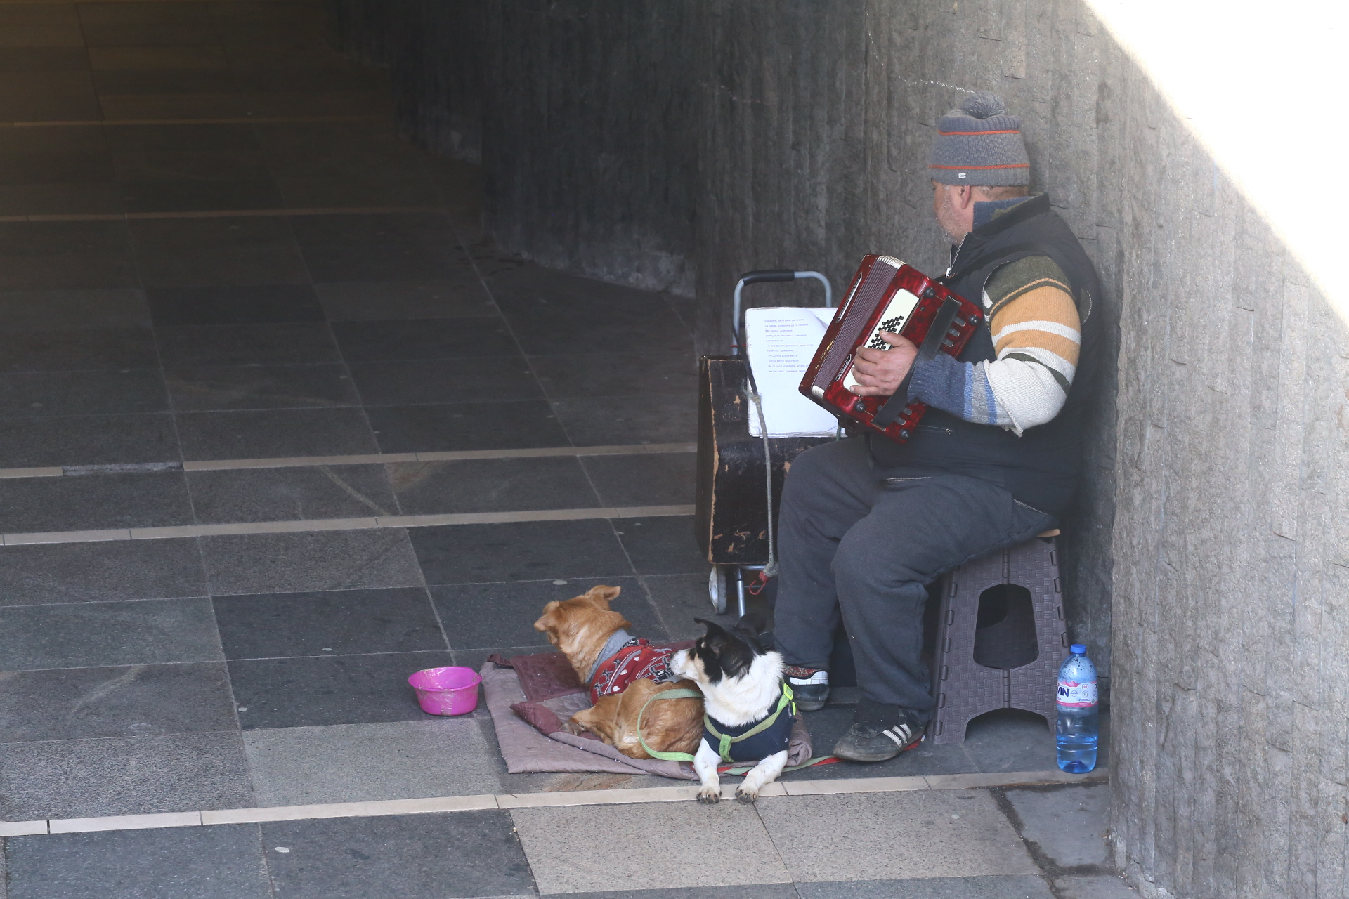
<path id="1" fill-rule="evenodd" d="M 1021 836 L 1060 868 L 1106 864 L 1110 786 L 1008 790 Z"/>

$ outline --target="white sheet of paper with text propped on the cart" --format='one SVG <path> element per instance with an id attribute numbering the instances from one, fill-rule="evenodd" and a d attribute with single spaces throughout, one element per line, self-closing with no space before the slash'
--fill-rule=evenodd
<path id="1" fill-rule="evenodd" d="M 824 338 L 832 309 L 769 306 L 745 313 L 745 346 L 769 437 L 832 437 L 838 419 L 801 396 L 805 368 Z M 750 435 L 759 437 L 758 415 L 749 410 Z"/>

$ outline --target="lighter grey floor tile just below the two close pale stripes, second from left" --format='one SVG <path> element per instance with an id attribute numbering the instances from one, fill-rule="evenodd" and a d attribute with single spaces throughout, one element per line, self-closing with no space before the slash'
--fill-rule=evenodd
<path id="1" fill-rule="evenodd" d="M 421 586 L 407 531 L 312 531 L 201 538 L 216 596 Z"/>

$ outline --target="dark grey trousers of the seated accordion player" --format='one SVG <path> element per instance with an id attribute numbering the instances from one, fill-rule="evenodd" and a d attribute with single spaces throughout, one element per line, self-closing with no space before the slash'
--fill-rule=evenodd
<path id="1" fill-rule="evenodd" d="M 809 449 L 782 489 L 777 648 L 788 664 L 828 667 L 842 612 L 862 693 L 927 717 L 925 585 L 1055 523 L 993 481 L 873 470 L 861 438 Z"/>

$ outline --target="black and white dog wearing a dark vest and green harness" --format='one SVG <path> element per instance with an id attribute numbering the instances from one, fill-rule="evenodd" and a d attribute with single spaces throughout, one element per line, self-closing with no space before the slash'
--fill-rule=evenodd
<path id="1" fill-rule="evenodd" d="M 764 784 L 782 774 L 796 720 L 791 693 L 784 689 L 782 656 L 765 648 L 754 621 L 742 619 L 727 631 L 715 621 L 693 620 L 706 625 L 707 633 L 692 648 L 672 655 L 669 667 L 703 691 L 707 718 L 693 756 L 693 770 L 703 780 L 697 801 L 720 801 L 718 764 L 758 762 L 735 790 L 738 801 L 754 802 Z"/>

